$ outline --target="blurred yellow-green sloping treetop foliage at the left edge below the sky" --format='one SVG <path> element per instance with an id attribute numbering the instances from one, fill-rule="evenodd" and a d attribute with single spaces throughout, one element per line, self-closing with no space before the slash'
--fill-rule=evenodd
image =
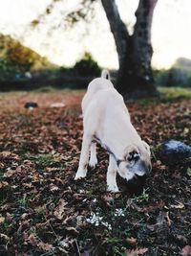
<path id="1" fill-rule="evenodd" d="M 47 58 L 42 58 L 10 35 L 0 34 L 1 80 L 20 77 L 25 72 L 47 68 L 53 68 L 53 64 Z"/>

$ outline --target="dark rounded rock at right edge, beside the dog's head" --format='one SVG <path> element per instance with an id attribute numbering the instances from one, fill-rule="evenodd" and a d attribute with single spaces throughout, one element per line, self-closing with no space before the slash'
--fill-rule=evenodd
<path id="1" fill-rule="evenodd" d="M 176 140 L 169 140 L 159 147 L 159 158 L 166 165 L 190 165 L 191 147 Z"/>

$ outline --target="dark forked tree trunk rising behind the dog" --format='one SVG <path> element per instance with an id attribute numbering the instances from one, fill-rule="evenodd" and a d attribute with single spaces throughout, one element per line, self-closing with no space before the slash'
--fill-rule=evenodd
<path id="1" fill-rule="evenodd" d="M 125 99 L 158 95 L 151 68 L 151 25 L 157 1 L 139 0 L 134 34 L 130 36 L 120 19 L 115 0 L 101 0 L 117 45 L 116 86 Z"/>

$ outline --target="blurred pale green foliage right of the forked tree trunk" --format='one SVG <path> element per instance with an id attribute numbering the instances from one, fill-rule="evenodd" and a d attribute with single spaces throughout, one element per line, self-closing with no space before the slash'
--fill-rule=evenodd
<path id="1" fill-rule="evenodd" d="M 178 58 L 172 68 L 158 70 L 154 74 L 159 85 L 191 87 L 191 59 Z"/>

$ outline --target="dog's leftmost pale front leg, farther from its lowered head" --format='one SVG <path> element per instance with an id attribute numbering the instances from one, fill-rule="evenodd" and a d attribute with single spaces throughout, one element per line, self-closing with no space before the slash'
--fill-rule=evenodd
<path id="1" fill-rule="evenodd" d="M 91 142 L 92 142 L 92 138 L 84 133 L 82 147 L 81 147 L 81 154 L 79 158 L 79 166 L 74 176 L 75 180 L 81 177 L 85 177 L 87 174 L 87 166 L 88 166 Z"/>

